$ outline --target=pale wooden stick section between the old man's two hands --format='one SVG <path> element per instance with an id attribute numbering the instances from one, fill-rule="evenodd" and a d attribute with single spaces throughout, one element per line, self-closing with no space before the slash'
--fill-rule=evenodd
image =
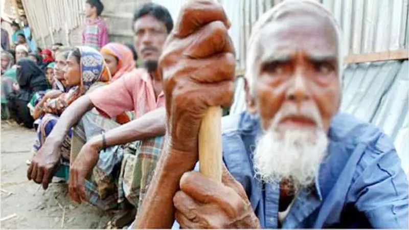
<path id="1" fill-rule="evenodd" d="M 221 181 L 221 108 L 210 107 L 199 130 L 200 173 Z"/>

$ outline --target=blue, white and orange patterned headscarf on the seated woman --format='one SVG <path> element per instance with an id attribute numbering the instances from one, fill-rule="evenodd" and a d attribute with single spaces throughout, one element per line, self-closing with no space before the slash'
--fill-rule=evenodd
<path id="1" fill-rule="evenodd" d="M 70 105 L 84 95 L 96 82 L 109 82 L 111 76 L 102 55 L 89 47 L 78 47 L 81 52 L 81 84 L 74 86 L 65 96 L 65 102 Z"/>

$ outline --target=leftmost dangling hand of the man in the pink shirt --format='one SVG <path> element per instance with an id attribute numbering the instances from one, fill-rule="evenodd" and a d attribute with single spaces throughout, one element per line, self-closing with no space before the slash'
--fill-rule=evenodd
<path id="1" fill-rule="evenodd" d="M 42 183 L 44 190 L 48 188 L 59 163 L 61 154 L 61 145 L 59 143 L 52 138 L 47 138 L 46 142 L 34 155 L 27 170 L 27 178 L 29 180 L 33 179 L 36 183 Z"/>

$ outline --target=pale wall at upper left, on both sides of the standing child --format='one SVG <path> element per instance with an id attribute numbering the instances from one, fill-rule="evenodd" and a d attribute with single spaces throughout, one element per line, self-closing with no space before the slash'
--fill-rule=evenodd
<path id="1" fill-rule="evenodd" d="M 102 0 L 109 40 L 132 42 L 132 17 L 134 10 L 150 0 Z M 35 39 L 41 47 L 54 42 L 81 44 L 85 23 L 84 0 L 22 0 Z M 41 13 L 38 13 L 41 12 Z"/>

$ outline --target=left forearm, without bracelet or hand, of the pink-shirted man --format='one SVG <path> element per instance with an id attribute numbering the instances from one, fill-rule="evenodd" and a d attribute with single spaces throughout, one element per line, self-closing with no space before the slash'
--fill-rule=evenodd
<path id="1" fill-rule="evenodd" d="M 93 107 L 94 104 L 91 102 L 87 95 L 84 95 L 75 100 L 61 114 L 57 124 L 53 128 L 53 131 L 51 131 L 50 135 L 47 138 L 61 143 L 71 127 L 77 124 L 82 116 L 84 116 L 84 114 Z"/>

